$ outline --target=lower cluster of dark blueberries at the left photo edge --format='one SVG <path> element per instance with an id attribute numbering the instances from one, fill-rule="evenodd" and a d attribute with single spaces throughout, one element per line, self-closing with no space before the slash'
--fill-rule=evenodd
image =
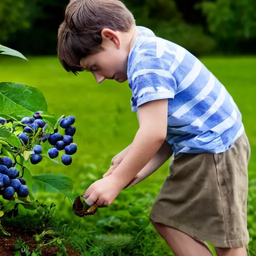
<path id="1" fill-rule="evenodd" d="M 19 172 L 12 165 L 11 158 L 0 158 L 0 195 L 6 200 L 11 200 L 15 192 L 19 197 L 28 195 L 26 181 L 18 178 Z"/>

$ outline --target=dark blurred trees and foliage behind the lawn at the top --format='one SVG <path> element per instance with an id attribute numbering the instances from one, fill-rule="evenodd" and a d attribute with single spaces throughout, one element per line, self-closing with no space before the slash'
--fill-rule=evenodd
<path id="1" fill-rule="evenodd" d="M 123 0 L 138 25 L 196 55 L 255 53 L 255 0 Z M 24 54 L 55 54 L 68 0 L 1 0 L 0 42 Z M 6 15 L 7 13 L 7 15 Z M 28 40 L 29 38 L 29 40 Z"/>

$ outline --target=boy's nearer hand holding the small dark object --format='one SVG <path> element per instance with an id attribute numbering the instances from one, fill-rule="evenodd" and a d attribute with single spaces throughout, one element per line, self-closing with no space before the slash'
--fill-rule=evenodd
<path id="1" fill-rule="evenodd" d="M 96 202 L 98 206 L 107 206 L 113 202 L 123 187 L 115 175 L 109 175 L 92 183 L 82 197 L 88 205 Z"/>

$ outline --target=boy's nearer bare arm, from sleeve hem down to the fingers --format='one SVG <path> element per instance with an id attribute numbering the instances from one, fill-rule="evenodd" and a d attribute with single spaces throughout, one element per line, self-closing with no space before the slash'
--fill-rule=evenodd
<path id="1" fill-rule="evenodd" d="M 106 206 L 151 160 L 167 134 L 168 99 L 151 100 L 138 106 L 139 129 L 114 173 L 93 182 L 83 193 L 86 203 Z"/>

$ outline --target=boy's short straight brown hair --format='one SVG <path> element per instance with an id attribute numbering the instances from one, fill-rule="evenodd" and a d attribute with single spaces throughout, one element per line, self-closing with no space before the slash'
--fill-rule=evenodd
<path id="1" fill-rule="evenodd" d="M 82 71 L 80 59 L 97 53 L 103 28 L 128 31 L 135 24 L 131 12 L 119 0 L 70 0 L 58 29 L 57 52 L 66 71 Z"/>

